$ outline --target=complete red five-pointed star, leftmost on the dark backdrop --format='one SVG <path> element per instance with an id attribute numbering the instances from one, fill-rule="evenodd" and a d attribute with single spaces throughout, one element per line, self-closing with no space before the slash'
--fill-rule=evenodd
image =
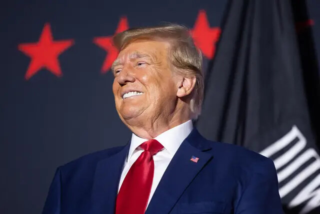
<path id="1" fill-rule="evenodd" d="M 25 79 L 30 79 L 42 68 L 46 68 L 57 77 L 62 76 L 58 56 L 72 44 L 73 40 L 53 41 L 50 24 L 46 23 L 37 43 L 18 45 L 18 49 L 31 58 Z"/>

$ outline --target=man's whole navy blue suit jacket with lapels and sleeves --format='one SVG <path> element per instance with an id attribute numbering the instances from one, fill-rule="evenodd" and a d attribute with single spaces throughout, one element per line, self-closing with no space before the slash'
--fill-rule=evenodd
<path id="1" fill-rule="evenodd" d="M 114 213 L 129 144 L 57 168 L 43 213 Z M 191 156 L 197 162 L 190 161 Z M 165 170 L 145 213 L 282 213 L 272 160 L 196 129 Z"/>

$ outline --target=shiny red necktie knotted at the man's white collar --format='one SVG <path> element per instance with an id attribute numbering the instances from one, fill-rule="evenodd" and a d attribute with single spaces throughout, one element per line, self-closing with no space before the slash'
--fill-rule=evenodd
<path id="1" fill-rule="evenodd" d="M 140 145 L 144 150 L 126 174 L 116 197 L 115 214 L 143 214 L 150 195 L 154 163 L 152 156 L 163 146 L 154 139 Z"/>

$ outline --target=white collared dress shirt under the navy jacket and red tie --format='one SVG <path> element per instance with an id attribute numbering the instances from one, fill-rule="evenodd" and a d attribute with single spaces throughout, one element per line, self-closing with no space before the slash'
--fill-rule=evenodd
<path id="1" fill-rule="evenodd" d="M 148 199 L 147 206 L 152 198 L 152 195 L 160 182 L 160 179 L 169 165 L 173 155 L 175 154 L 176 150 L 178 150 L 179 146 L 181 145 L 182 141 L 190 134 L 192 131 L 192 121 L 188 120 L 185 123 L 182 123 L 178 126 L 175 126 L 158 136 L 156 139 L 159 143 L 162 144 L 163 149 L 160 150 L 158 153 L 153 155 L 154 161 L 154 174 L 152 180 L 151 191 Z M 143 149 L 139 147 L 143 142 L 147 141 L 146 139 L 140 138 L 132 133 L 131 137 L 131 144 L 128 152 L 128 156 L 124 162 L 124 167 L 122 170 L 122 174 L 120 177 L 118 192 L 124 180 L 126 173 L 129 171 L 130 167 L 136 161 L 136 159 L 140 156 L 143 152 Z"/>

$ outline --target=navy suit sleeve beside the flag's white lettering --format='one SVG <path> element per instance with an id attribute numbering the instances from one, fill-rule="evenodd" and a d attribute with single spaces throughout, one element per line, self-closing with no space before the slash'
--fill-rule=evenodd
<path id="1" fill-rule="evenodd" d="M 254 164 L 251 177 L 240 196 L 234 213 L 283 213 L 277 175 L 271 159 L 267 158 Z"/>

